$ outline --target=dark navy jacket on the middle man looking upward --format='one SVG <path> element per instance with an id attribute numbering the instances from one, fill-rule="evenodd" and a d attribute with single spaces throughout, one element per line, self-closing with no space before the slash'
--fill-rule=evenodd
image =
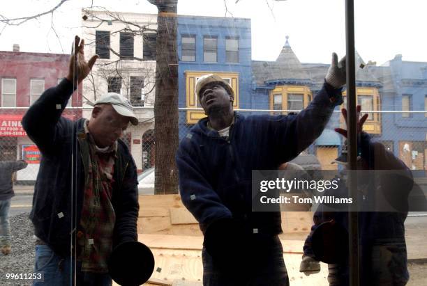
<path id="1" fill-rule="evenodd" d="M 276 170 L 313 143 L 331 117 L 329 97 L 335 95 L 340 90 L 324 84 L 297 115 L 236 113 L 227 139 L 207 127 L 207 118 L 190 129 L 177 152 L 179 189 L 202 232 L 223 218 L 236 219 L 248 233 L 282 232 L 280 212 L 251 212 L 252 170 Z"/>

